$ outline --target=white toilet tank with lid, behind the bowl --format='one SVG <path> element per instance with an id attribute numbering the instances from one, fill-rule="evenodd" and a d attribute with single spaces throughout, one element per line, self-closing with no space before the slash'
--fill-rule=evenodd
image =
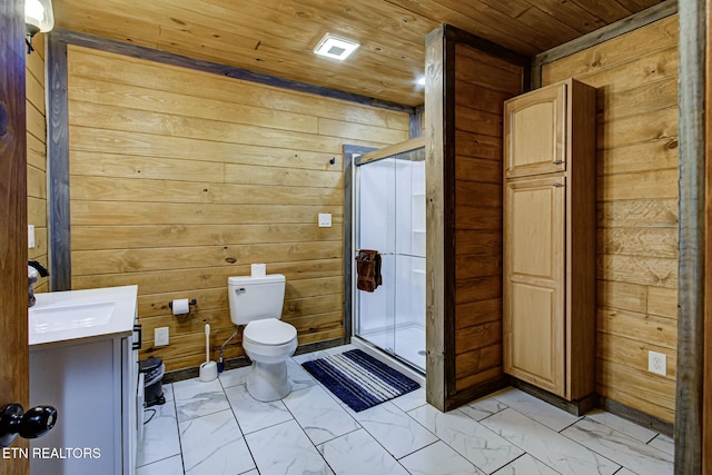
<path id="1" fill-rule="evenodd" d="M 285 281 L 281 274 L 228 277 L 227 290 L 233 323 L 247 325 L 251 320 L 281 318 Z"/>

